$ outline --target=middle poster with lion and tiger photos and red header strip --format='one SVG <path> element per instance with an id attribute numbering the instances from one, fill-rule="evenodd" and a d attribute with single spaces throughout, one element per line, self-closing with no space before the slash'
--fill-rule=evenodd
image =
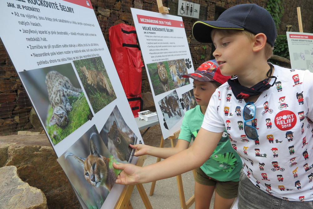
<path id="1" fill-rule="evenodd" d="M 163 138 L 180 130 L 185 112 L 197 105 L 194 68 L 181 17 L 131 8 Z"/>

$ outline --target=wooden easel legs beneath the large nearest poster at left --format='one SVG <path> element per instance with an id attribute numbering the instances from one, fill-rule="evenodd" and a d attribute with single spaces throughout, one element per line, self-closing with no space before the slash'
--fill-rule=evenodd
<path id="1" fill-rule="evenodd" d="M 142 166 L 144 161 L 146 159 L 146 155 L 140 156 L 137 160 L 136 165 L 137 166 Z M 121 192 L 120 198 L 115 204 L 114 209 L 120 209 L 120 208 L 125 208 L 125 209 L 133 209 L 131 206 L 131 201 L 129 200 L 131 197 L 131 193 L 133 192 L 135 185 L 126 185 Z M 152 209 L 151 203 L 149 201 L 149 198 L 146 194 L 145 189 L 143 188 L 142 184 L 136 184 L 136 187 L 138 189 L 138 192 L 141 196 L 141 199 L 143 201 L 143 204 L 145 204 L 146 208 Z"/>

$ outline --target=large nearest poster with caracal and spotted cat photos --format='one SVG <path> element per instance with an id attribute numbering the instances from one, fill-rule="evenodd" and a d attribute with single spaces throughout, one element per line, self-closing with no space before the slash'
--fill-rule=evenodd
<path id="1" fill-rule="evenodd" d="M 0 38 L 83 208 L 113 208 L 113 162 L 143 143 L 90 0 L 0 3 Z M 127 108 L 128 107 L 128 108 Z"/>

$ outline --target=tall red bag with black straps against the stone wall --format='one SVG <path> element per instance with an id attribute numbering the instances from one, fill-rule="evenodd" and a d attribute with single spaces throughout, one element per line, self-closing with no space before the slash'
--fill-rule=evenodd
<path id="1" fill-rule="evenodd" d="M 137 45 L 135 27 L 120 23 L 109 29 L 110 53 L 123 89 L 135 117 L 142 110 L 141 51 Z M 136 109 L 139 107 L 139 109 Z M 140 108 L 141 107 L 141 108 Z M 134 110 L 133 110 L 134 109 Z"/>

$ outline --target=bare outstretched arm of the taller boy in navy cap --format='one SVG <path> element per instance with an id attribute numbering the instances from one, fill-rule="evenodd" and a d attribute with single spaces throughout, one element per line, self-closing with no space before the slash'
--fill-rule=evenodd
<path id="1" fill-rule="evenodd" d="M 200 128 L 197 137 L 188 149 L 185 149 L 158 163 L 144 167 L 132 164 L 113 164 L 123 170 L 117 176 L 116 183 L 134 185 L 170 178 L 200 167 L 213 153 L 222 133 L 214 133 Z"/>

